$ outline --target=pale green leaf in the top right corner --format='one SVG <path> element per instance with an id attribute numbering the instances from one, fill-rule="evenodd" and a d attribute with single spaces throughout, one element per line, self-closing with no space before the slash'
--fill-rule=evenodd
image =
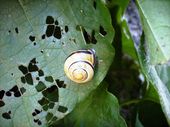
<path id="1" fill-rule="evenodd" d="M 170 60 L 170 1 L 137 0 L 150 63 L 155 65 Z"/>

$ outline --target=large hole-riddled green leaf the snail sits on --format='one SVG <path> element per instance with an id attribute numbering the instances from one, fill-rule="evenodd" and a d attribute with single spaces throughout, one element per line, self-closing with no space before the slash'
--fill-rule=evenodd
<path id="1" fill-rule="evenodd" d="M 1 2 L 1 127 L 48 126 L 105 77 L 114 56 L 109 12 L 99 0 Z M 91 48 L 98 60 L 93 80 L 82 85 L 70 81 L 63 71 L 65 59 Z"/>

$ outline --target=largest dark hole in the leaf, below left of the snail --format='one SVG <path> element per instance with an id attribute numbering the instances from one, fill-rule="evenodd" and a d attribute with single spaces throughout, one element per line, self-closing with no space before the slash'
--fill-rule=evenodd
<path id="1" fill-rule="evenodd" d="M 48 98 L 48 100 L 53 102 L 58 102 L 58 88 L 56 85 L 53 85 L 42 92 L 42 94 Z"/>

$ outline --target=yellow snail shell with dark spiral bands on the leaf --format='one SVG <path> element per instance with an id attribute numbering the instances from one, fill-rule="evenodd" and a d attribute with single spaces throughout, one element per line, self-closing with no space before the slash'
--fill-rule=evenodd
<path id="1" fill-rule="evenodd" d="M 86 83 L 94 76 L 96 62 L 95 50 L 77 50 L 65 60 L 64 72 L 76 83 Z"/>

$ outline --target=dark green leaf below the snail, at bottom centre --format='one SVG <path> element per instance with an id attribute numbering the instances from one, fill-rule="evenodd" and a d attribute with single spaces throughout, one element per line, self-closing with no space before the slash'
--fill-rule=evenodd
<path id="1" fill-rule="evenodd" d="M 126 127 L 119 114 L 116 97 L 106 90 L 106 83 L 93 91 L 66 117 L 65 125 L 73 127 Z M 60 125 L 62 126 L 62 125 Z"/>

